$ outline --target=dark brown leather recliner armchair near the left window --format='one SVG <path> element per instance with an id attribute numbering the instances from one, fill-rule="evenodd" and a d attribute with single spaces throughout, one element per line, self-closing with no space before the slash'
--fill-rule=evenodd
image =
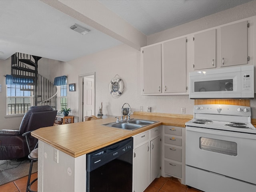
<path id="1" fill-rule="evenodd" d="M 12 160 L 27 157 L 29 154 L 25 132 L 41 127 L 53 126 L 57 111 L 50 106 L 32 106 L 24 115 L 20 130 L 0 130 L 0 160 Z M 34 149 L 36 138 L 30 136 L 31 150 Z"/>

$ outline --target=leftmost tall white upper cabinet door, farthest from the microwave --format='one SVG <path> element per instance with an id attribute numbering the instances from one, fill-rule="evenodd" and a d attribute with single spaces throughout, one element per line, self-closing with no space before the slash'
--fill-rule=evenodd
<path id="1" fill-rule="evenodd" d="M 143 93 L 161 93 L 161 44 L 144 48 L 142 58 Z"/>

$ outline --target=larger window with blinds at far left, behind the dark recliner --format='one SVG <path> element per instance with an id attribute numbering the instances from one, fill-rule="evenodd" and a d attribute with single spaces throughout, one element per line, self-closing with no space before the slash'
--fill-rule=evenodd
<path id="1" fill-rule="evenodd" d="M 32 92 L 33 86 L 20 85 L 20 84 L 7 84 L 6 85 L 6 114 L 25 114 L 30 106 L 32 106 L 33 98 Z"/>

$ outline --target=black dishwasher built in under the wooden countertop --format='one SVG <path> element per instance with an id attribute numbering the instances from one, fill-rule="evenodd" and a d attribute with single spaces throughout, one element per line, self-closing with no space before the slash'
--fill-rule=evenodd
<path id="1" fill-rule="evenodd" d="M 86 154 L 86 192 L 132 192 L 133 138 Z"/>

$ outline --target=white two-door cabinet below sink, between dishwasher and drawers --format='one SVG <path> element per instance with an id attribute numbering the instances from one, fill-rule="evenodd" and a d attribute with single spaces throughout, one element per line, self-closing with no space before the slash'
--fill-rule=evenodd
<path id="1" fill-rule="evenodd" d="M 161 175 L 161 127 L 133 136 L 133 192 L 143 192 Z"/>

